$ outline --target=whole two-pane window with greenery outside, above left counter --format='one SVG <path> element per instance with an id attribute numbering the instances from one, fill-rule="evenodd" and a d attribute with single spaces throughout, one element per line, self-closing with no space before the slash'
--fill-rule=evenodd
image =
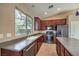
<path id="1" fill-rule="evenodd" d="M 32 33 L 32 18 L 15 9 L 15 30 L 16 35 Z"/>

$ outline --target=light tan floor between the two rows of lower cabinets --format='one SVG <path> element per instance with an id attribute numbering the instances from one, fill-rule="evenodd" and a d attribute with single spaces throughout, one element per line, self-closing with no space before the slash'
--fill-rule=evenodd
<path id="1" fill-rule="evenodd" d="M 56 44 L 43 43 L 36 56 L 57 56 Z"/>

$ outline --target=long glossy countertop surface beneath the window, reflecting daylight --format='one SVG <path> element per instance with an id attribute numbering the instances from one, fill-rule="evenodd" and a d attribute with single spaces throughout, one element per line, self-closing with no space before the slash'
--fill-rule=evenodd
<path id="1" fill-rule="evenodd" d="M 42 34 L 30 36 L 30 37 L 27 37 L 26 39 L 20 40 L 16 43 L 2 46 L 1 48 L 7 49 L 7 50 L 12 50 L 12 51 L 21 51 L 22 49 L 24 49 L 25 47 L 27 47 L 28 45 L 33 43 L 35 40 L 37 40 L 37 38 L 39 38 L 40 36 L 42 36 Z"/>

